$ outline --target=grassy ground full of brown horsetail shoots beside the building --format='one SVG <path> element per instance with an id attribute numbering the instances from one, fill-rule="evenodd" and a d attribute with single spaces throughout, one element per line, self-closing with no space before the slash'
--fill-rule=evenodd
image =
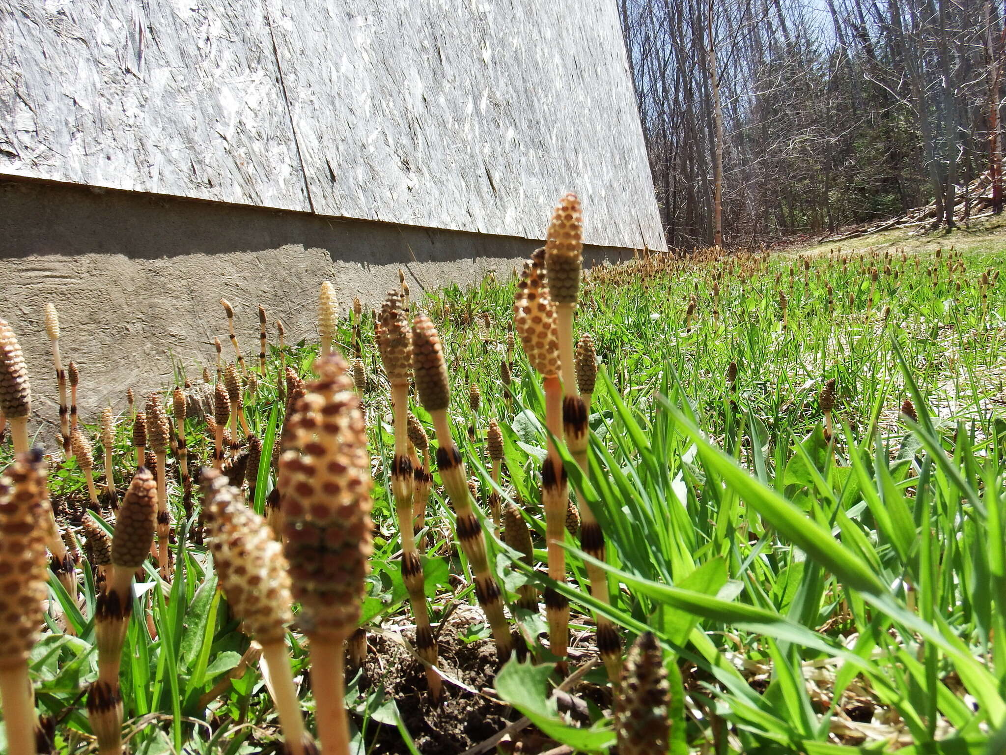
<path id="1" fill-rule="evenodd" d="M 995 749 L 1006 263 L 543 240 L 163 383 L 0 320 L 0 750 Z"/>

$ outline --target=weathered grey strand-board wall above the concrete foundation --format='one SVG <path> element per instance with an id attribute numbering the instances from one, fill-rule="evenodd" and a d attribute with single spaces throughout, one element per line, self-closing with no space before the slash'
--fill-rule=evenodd
<path id="1" fill-rule="evenodd" d="M 664 248 L 613 0 L 0 0 L 0 173 Z"/>

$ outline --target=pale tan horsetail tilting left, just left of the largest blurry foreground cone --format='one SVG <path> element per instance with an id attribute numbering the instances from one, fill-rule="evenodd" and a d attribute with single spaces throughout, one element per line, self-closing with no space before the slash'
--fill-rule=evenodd
<path id="1" fill-rule="evenodd" d="M 313 752 L 304 729 L 287 652 L 286 625 L 293 621 L 290 575 L 282 547 L 266 520 L 244 504 L 224 475 L 204 469 L 202 489 L 213 565 L 231 610 L 262 645 L 270 691 L 292 755 Z"/>

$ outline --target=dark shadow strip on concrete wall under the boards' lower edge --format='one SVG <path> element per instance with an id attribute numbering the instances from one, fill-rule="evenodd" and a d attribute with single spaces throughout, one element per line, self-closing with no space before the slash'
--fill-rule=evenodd
<path id="1" fill-rule="evenodd" d="M 547 209 L 542 212 L 542 230 Z M 0 257 L 114 254 L 134 260 L 300 245 L 333 262 L 400 265 L 525 258 L 539 241 L 264 209 L 77 184 L 0 183 Z M 626 250 L 589 247 L 589 264 Z"/>

